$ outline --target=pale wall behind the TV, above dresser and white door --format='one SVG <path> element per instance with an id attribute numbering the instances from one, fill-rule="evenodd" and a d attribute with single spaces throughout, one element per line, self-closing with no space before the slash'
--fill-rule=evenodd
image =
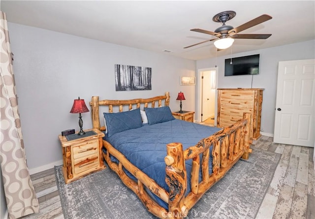
<path id="1" fill-rule="evenodd" d="M 278 62 L 315 59 L 315 40 L 246 53 L 232 54 L 232 58 L 253 54 L 260 54 L 259 75 L 253 75 L 253 80 L 250 75 L 224 77 L 224 60 L 229 59 L 231 57 L 230 55 L 218 57 L 217 63 L 215 58 L 197 61 L 197 70 L 214 67 L 217 64 L 218 88 L 251 88 L 251 86 L 252 88 L 264 88 L 261 112 L 261 131 L 266 135 L 273 136 Z"/>

